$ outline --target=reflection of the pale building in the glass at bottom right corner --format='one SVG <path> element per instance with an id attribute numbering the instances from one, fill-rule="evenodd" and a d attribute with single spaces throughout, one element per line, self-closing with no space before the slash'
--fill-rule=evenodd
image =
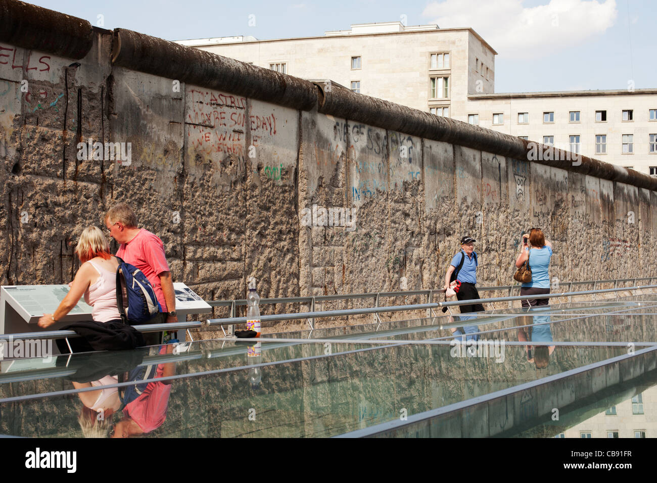
<path id="1" fill-rule="evenodd" d="M 652 386 L 637 396 L 573 426 L 560 436 L 562 438 L 654 438 L 657 436 L 657 386 Z"/>

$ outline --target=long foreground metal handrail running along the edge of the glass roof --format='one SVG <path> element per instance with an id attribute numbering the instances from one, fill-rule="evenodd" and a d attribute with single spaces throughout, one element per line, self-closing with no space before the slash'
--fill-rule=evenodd
<path id="1" fill-rule="evenodd" d="M 574 283 L 578 283 L 578 282 L 574 282 Z M 600 281 L 597 281 L 597 283 L 600 283 Z M 450 310 L 451 313 L 451 308 L 457 306 L 463 306 L 463 305 L 488 304 L 493 302 L 513 302 L 516 300 L 534 300 L 537 298 L 558 298 L 558 300 L 561 302 L 560 300 L 561 298 L 566 298 L 566 300 L 570 301 L 572 300 L 572 297 L 581 296 L 581 295 L 593 295 L 593 300 L 595 300 L 597 294 L 610 293 L 610 292 L 616 292 L 616 298 L 618 298 L 618 292 L 622 292 L 624 290 L 630 290 L 630 291 L 640 290 L 641 294 L 643 294 L 643 290 L 649 288 L 652 289 L 657 288 L 657 285 L 602 288 L 597 290 L 583 290 L 579 292 L 561 292 L 561 293 L 540 294 L 540 295 L 522 295 L 522 296 L 518 295 L 518 296 L 510 296 L 510 297 L 478 298 L 474 300 L 455 300 L 453 302 L 432 302 L 427 304 L 409 304 L 409 305 L 401 305 L 401 306 L 376 306 L 376 307 L 360 308 L 360 309 L 279 313 L 274 315 L 261 315 L 260 320 L 261 322 L 280 322 L 286 320 L 307 319 L 307 323 L 309 324 L 311 330 L 314 330 L 315 327 L 313 325 L 312 319 L 318 317 L 342 317 L 345 315 L 367 315 L 371 313 L 375 315 L 375 319 L 378 320 L 378 323 L 380 325 L 382 321 L 379 317 L 379 313 L 426 309 L 428 311 L 431 311 L 433 317 L 439 317 L 433 312 L 434 309 L 446 307 L 448 310 Z M 143 333 L 160 332 L 160 331 L 177 331 L 183 329 L 187 331 L 187 334 L 189 335 L 190 339 L 193 340 L 191 338 L 191 334 L 189 333 L 189 329 L 200 329 L 201 327 L 219 327 L 225 334 L 225 329 L 223 328 L 224 325 L 237 325 L 242 323 L 246 323 L 246 317 L 226 317 L 223 319 L 208 319 L 206 321 L 135 325 L 133 327 L 135 327 L 135 329 Z M 74 331 L 44 331 L 44 332 L 30 332 L 30 333 L 21 333 L 21 334 L 0 334 L 0 341 L 24 340 L 24 339 L 30 339 L 30 340 L 47 340 L 47 339 L 59 339 L 59 338 L 68 339 L 74 337 L 78 337 L 78 334 Z"/>

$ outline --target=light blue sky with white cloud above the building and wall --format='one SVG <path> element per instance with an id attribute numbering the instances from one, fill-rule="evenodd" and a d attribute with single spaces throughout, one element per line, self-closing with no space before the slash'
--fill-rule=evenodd
<path id="1" fill-rule="evenodd" d="M 320 36 L 351 24 L 472 27 L 498 52 L 495 91 L 657 87 L 654 0 L 330 0 L 225 2 L 34 0 L 104 28 L 168 40 Z M 249 26 L 254 15 L 255 26 Z"/>

